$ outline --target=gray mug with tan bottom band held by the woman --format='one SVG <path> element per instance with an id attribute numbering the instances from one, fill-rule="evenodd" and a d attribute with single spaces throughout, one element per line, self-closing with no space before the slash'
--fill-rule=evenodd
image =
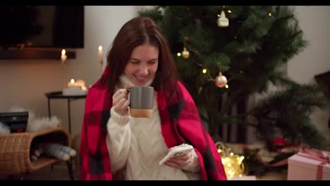
<path id="1" fill-rule="evenodd" d="M 129 87 L 130 116 L 149 118 L 154 106 L 154 87 Z"/>

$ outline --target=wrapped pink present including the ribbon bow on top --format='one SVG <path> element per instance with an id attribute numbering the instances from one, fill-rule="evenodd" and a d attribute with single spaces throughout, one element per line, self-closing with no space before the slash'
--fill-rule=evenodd
<path id="1" fill-rule="evenodd" d="M 303 147 L 288 159 L 288 180 L 330 180 L 330 152 Z"/>

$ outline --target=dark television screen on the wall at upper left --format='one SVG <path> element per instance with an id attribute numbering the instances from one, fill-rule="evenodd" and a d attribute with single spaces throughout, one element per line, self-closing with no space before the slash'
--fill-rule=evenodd
<path id="1" fill-rule="evenodd" d="M 84 47 L 84 6 L 0 6 L 0 45 Z"/>

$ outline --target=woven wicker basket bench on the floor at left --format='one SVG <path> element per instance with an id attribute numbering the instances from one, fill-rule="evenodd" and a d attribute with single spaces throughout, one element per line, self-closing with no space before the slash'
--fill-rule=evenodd
<path id="1" fill-rule="evenodd" d="M 0 175 L 18 175 L 61 161 L 47 157 L 30 160 L 30 149 L 37 142 L 58 142 L 71 147 L 71 136 L 63 127 L 0 135 Z"/>

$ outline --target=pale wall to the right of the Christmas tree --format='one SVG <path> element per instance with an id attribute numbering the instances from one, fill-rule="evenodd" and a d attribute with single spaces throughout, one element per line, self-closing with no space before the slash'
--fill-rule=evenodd
<path id="1" fill-rule="evenodd" d="M 288 63 L 288 77 L 302 84 L 315 84 L 314 75 L 330 70 L 330 6 L 295 6 L 295 12 L 310 45 Z M 317 109 L 311 118 L 329 144 L 330 109 Z"/>

